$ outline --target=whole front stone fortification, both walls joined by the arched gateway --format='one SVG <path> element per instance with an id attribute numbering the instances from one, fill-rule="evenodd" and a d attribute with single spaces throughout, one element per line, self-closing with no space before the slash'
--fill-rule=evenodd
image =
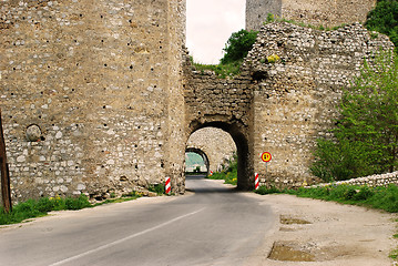
<path id="1" fill-rule="evenodd" d="M 315 140 L 379 48 L 360 24 L 263 28 L 242 74 L 193 71 L 183 0 L 0 2 L 0 99 L 13 200 L 111 192 L 172 178 L 184 192 L 188 137 L 229 133 L 238 186 L 310 181 Z M 273 55 L 274 54 L 274 55 Z M 271 57 L 273 55 L 273 57 Z M 272 60 L 273 58 L 273 60 Z M 268 60 L 269 59 L 269 60 Z M 271 152 L 266 166 L 259 155 Z"/>

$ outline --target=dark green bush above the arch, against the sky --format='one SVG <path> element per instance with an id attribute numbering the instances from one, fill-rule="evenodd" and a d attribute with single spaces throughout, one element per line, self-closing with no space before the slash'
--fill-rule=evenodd
<path id="1" fill-rule="evenodd" d="M 232 33 L 228 41 L 223 49 L 225 54 L 221 59 L 222 64 L 242 61 L 252 50 L 253 44 L 256 42 L 257 31 L 239 30 Z"/>

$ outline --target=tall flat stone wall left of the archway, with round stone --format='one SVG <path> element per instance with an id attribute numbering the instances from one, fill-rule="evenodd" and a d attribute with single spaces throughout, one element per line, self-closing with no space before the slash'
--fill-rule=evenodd
<path id="1" fill-rule="evenodd" d="M 1 1 L 14 200 L 101 197 L 166 175 L 183 190 L 184 23 L 181 0 Z"/>

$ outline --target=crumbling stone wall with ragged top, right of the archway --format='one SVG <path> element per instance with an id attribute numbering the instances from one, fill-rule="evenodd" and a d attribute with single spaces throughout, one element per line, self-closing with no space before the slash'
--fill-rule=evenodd
<path id="1" fill-rule="evenodd" d="M 263 28 L 246 59 L 254 86 L 254 170 L 262 183 L 312 182 L 316 139 L 330 136 L 341 88 L 359 73 L 364 58 L 392 43 L 355 23 L 318 31 L 289 23 Z M 259 155 L 271 152 L 267 165 Z"/>

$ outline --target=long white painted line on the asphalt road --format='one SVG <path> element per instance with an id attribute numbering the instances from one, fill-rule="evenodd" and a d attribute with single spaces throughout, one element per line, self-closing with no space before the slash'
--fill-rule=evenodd
<path id="1" fill-rule="evenodd" d="M 125 241 L 130 241 L 130 239 L 132 239 L 132 238 L 134 238 L 134 237 L 144 235 L 144 234 L 150 233 L 150 232 L 152 232 L 152 231 L 159 229 L 159 228 L 161 228 L 161 227 L 163 227 L 163 226 L 170 225 L 170 224 L 172 224 L 172 223 L 174 223 L 174 222 L 177 222 L 178 219 L 183 219 L 183 218 L 186 218 L 186 217 L 188 217 L 188 216 L 191 216 L 191 215 L 197 214 L 197 213 L 202 212 L 203 209 L 205 209 L 205 208 L 201 208 L 201 209 L 198 209 L 198 211 L 195 211 L 195 212 L 192 212 L 192 213 L 188 213 L 188 214 L 178 216 L 178 217 L 173 218 L 173 219 L 171 219 L 171 221 L 167 221 L 167 222 L 165 222 L 165 223 L 163 223 L 163 224 L 156 225 L 156 226 L 154 226 L 154 227 L 152 227 L 152 228 L 149 228 L 149 229 L 145 229 L 145 231 L 135 233 L 135 234 L 133 234 L 133 235 L 130 235 L 130 236 L 124 237 L 124 238 L 121 238 L 121 239 L 119 239 L 119 241 L 109 243 L 109 244 L 106 244 L 106 245 L 99 246 L 99 247 L 96 247 L 96 248 L 94 248 L 94 249 L 88 250 L 88 252 L 85 252 L 85 253 L 81 253 L 81 254 L 75 255 L 75 256 L 73 256 L 73 257 L 65 258 L 65 259 L 60 260 L 60 262 L 58 262 L 58 263 L 51 264 L 50 266 L 57 266 L 57 265 L 62 265 L 62 264 L 65 264 L 65 263 L 70 263 L 70 262 L 72 262 L 72 260 L 74 260 L 74 259 L 78 259 L 78 258 L 84 257 L 84 256 L 86 256 L 86 255 L 90 255 L 90 254 L 93 254 L 93 253 L 96 253 L 96 252 L 106 249 L 106 248 L 109 248 L 109 247 L 111 247 L 111 246 L 119 245 L 119 244 L 121 244 L 121 243 L 123 243 L 123 242 L 125 242 Z"/>

